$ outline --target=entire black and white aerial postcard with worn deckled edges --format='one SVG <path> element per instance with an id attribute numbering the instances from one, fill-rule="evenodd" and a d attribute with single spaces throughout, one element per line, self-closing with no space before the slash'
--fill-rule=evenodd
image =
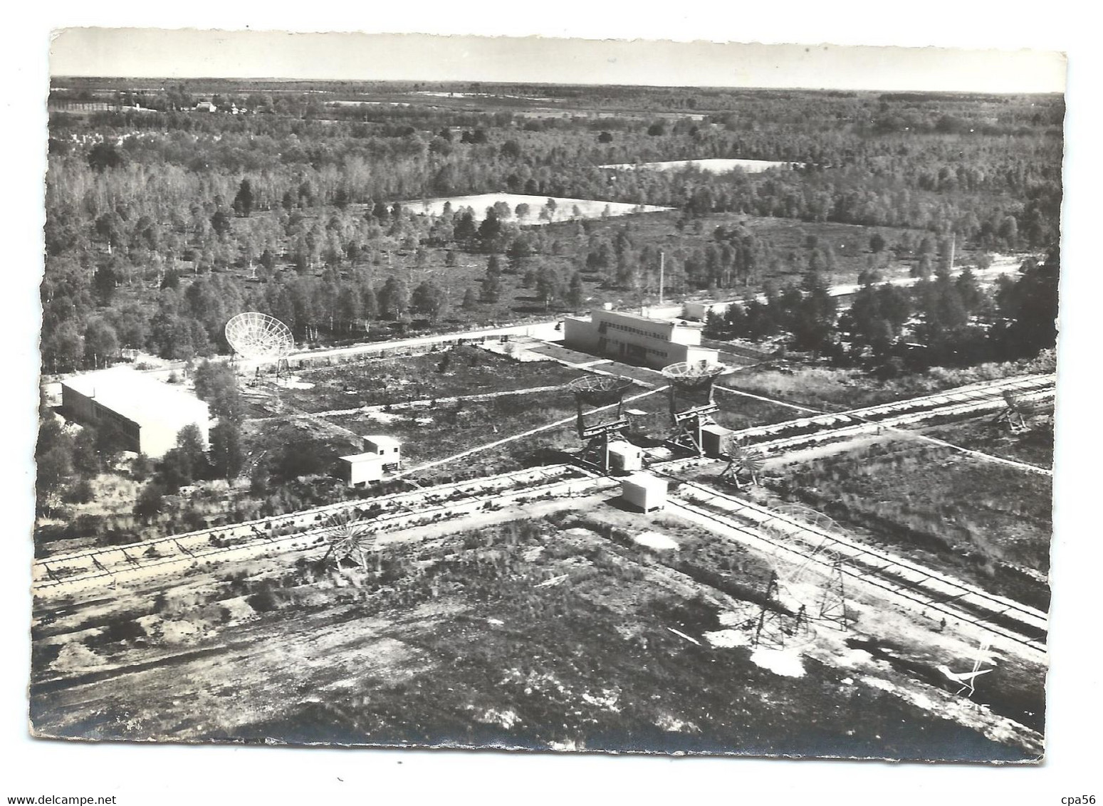
<path id="1" fill-rule="evenodd" d="M 29 741 L 1048 763 L 1065 53 L 266 28 L 40 43 Z"/>

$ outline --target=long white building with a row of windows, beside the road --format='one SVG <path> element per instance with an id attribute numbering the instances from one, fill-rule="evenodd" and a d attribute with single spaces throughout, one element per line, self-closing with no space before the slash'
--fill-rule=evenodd
<path id="1" fill-rule="evenodd" d="M 719 361 L 717 351 L 700 346 L 700 327 L 620 311 L 593 310 L 589 320 L 565 316 L 564 344 L 654 369 L 678 362 Z"/>

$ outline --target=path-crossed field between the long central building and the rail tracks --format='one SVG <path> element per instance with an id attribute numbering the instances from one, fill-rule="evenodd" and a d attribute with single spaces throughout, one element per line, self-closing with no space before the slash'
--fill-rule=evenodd
<path id="1" fill-rule="evenodd" d="M 596 370 L 634 378 L 638 383 L 625 398 L 643 397 L 625 402 L 625 408 L 643 412 L 635 420 L 639 436 L 645 443 L 657 443 L 670 433 L 668 394 L 662 389 L 665 380 L 661 374 L 598 361 L 556 345 L 536 350 L 559 361 L 589 358 L 587 363 L 593 364 Z M 438 372 L 446 356 L 447 369 Z M 442 472 L 515 470 L 540 464 L 559 451 L 578 450 L 577 409 L 566 384 L 586 374 L 555 361 L 521 362 L 473 346 L 320 367 L 297 376 L 299 381 L 293 386 L 304 388 L 279 388 L 268 397 L 250 398 L 250 410 L 258 419 L 246 429 L 246 444 L 251 456 L 278 452 L 289 442 L 335 456 L 340 455 L 338 451 L 355 448 L 356 434 L 382 433 L 403 443 L 404 465 L 415 469 L 478 445 L 554 426 L 418 476 L 440 481 Z M 715 419 L 732 429 L 781 422 L 793 416 L 792 409 L 784 406 L 739 395 L 717 393 L 716 402 L 720 410 Z M 590 419 L 590 407 L 586 410 L 588 425 L 613 417 L 608 410 Z M 320 422 L 302 412 L 328 413 Z"/>

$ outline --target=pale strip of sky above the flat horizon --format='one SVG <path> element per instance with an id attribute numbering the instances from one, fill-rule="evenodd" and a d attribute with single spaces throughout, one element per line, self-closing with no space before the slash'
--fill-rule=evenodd
<path id="1" fill-rule="evenodd" d="M 53 77 L 1062 93 L 1063 54 L 544 36 L 65 29 Z"/>

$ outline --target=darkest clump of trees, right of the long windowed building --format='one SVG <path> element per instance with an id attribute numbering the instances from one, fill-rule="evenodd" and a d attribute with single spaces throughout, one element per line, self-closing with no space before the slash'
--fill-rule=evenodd
<path id="1" fill-rule="evenodd" d="M 1003 277 L 992 291 L 968 268 L 952 277 L 940 267 L 910 288 L 869 273 L 842 314 L 813 273 L 801 288 L 768 288 L 764 300 L 709 314 L 705 332 L 753 341 L 785 335 L 796 350 L 888 372 L 1019 359 L 1056 345 L 1059 273 L 1056 249 L 1040 264 L 1028 259 L 1017 278 Z"/>

